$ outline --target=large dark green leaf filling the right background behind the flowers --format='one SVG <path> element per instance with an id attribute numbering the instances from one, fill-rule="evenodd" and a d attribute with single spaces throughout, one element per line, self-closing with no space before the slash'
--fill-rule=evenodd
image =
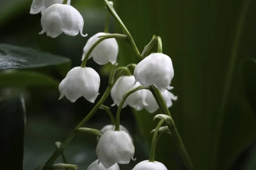
<path id="1" fill-rule="evenodd" d="M 162 38 L 163 53 L 172 58 L 172 93 L 179 98 L 170 112 L 196 169 L 228 170 L 256 138 L 250 104 L 255 93 L 248 98 L 241 76 L 241 63 L 255 54 L 256 2 L 130 0 L 116 5 L 140 52 L 156 35 Z M 122 45 L 120 50 L 120 65 L 134 61 L 131 49 Z M 135 113 L 148 143 L 155 114 Z M 170 137 L 163 135 L 159 142 L 156 160 L 180 169 Z"/>

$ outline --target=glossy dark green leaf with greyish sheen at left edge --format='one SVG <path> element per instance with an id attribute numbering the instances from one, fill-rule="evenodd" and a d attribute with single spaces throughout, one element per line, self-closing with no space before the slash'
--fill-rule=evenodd
<path id="1" fill-rule="evenodd" d="M 0 44 L 0 70 L 54 66 L 61 75 L 70 69 L 70 59 L 31 48 Z"/>

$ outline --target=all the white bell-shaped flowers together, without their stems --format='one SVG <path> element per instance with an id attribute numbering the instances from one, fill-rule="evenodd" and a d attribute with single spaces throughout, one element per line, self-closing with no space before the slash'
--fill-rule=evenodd
<path id="1" fill-rule="evenodd" d="M 30 14 L 41 12 L 42 31 L 47 36 L 55 38 L 62 32 L 70 36 L 87 36 L 82 33 L 84 20 L 79 11 L 70 5 L 62 4 L 63 0 L 33 0 Z M 87 55 L 94 43 L 99 40 L 99 36 L 108 33 L 99 32 L 87 41 L 84 46 L 82 60 Z M 109 38 L 99 42 L 99 44 L 91 51 L 88 58 L 99 65 L 105 65 L 108 62 L 116 63 L 119 47 L 115 38 Z M 172 60 L 169 56 L 162 53 L 153 53 L 140 61 L 135 69 L 134 75 L 126 75 L 119 77 L 111 90 L 113 105 L 120 105 L 123 95 L 128 90 L 140 85 L 154 85 L 158 88 L 166 102 L 167 107 L 172 106 L 172 100 L 177 100 L 177 96 L 173 95 L 169 90 L 171 81 L 174 77 Z M 99 74 L 88 67 L 72 68 L 67 76 L 59 85 L 60 98 L 67 97 L 71 102 L 75 102 L 79 97 L 83 96 L 89 102 L 94 103 L 100 86 Z M 157 111 L 158 105 L 153 94 L 149 90 L 139 90 L 132 93 L 125 100 L 122 108 L 129 105 L 137 111 L 145 108 L 150 113 Z M 114 125 L 106 125 L 102 128 L 102 136 L 98 138 L 96 147 L 96 155 L 98 159 L 94 161 L 87 170 L 119 170 L 118 164 L 128 164 L 133 158 L 135 148 L 133 139 L 128 130 L 120 125 L 120 130 L 114 130 Z M 167 170 L 167 168 L 157 161 L 142 161 L 138 163 L 133 170 Z"/>

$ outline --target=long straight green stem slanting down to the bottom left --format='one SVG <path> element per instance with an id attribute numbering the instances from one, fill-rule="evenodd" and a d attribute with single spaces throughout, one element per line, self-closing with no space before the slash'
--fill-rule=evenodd
<path id="1" fill-rule="evenodd" d="M 105 100 L 107 99 L 107 97 L 111 93 L 111 88 L 112 88 L 112 85 L 109 85 L 108 88 L 106 89 L 105 93 L 103 94 L 102 98 L 94 106 L 94 108 L 90 111 L 90 113 L 88 113 L 88 115 L 70 133 L 70 135 L 67 137 L 65 142 L 61 144 L 61 147 L 58 150 L 55 150 L 55 152 L 52 154 L 52 156 L 45 163 L 46 166 L 44 167 L 44 169 L 49 169 L 49 166 L 54 163 L 54 161 L 58 158 L 58 156 L 61 154 L 61 152 L 63 152 L 63 150 L 67 147 L 69 142 L 74 138 L 74 136 L 78 132 L 77 129 L 79 129 L 79 127 L 82 127 L 93 116 L 93 114 L 100 108 L 100 106 L 105 102 Z"/>

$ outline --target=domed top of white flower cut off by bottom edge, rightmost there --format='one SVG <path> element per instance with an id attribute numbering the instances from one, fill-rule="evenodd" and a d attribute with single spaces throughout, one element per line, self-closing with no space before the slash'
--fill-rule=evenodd
<path id="1" fill-rule="evenodd" d="M 167 170 L 166 166 L 158 161 L 141 161 L 132 170 Z"/>

